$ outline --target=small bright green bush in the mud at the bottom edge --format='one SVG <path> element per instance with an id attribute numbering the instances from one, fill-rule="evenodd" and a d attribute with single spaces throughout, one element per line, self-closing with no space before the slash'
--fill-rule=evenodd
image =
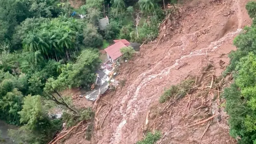
<path id="1" fill-rule="evenodd" d="M 162 137 L 162 134 L 159 131 L 156 131 L 155 134 L 148 132 L 144 140 L 137 141 L 136 144 L 155 144 L 157 140 Z"/>

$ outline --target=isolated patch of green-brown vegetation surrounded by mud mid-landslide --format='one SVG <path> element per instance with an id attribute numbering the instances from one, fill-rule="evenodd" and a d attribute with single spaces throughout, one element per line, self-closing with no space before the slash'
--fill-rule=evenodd
<path id="1" fill-rule="evenodd" d="M 194 84 L 194 79 L 186 79 L 177 85 L 172 85 L 169 89 L 164 91 L 159 99 L 159 102 L 164 103 L 171 98 L 180 99 L 184 97 L 187 93 L 190 93 L 193 90 Z"/>

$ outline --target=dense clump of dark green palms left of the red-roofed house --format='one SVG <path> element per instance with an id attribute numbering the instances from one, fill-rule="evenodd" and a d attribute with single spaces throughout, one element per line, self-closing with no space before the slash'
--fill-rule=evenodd
<path id="1" fill-rule="evenodd" d="M 82 23 L 73 18 L 60 16 L 29 31 L 23 39 L 23 48 L 31 53 L 30 62 L 37 64 L 42 58 L 70 60 L 77 52 L 77 38 L 82 33 Z"/>

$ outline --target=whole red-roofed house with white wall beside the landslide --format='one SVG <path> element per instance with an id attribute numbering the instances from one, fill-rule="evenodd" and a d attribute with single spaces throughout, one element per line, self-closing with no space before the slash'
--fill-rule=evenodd
<path id="1" fill-rule="evenodd" d="M 130 42 L 128 42 L 126 39 L 114 40 L 114 42 L 115 44 L 112 44 L 104 49 L 107 52 L 108 59 L 111 59 L 111 62 L 114 62 L 114 60 L 122 56 L 122 53 L 120 51 L 121 48 L 130 45 Z"/>

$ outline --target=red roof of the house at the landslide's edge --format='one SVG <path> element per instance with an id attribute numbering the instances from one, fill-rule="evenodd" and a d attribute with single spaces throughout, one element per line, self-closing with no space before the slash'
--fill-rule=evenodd
<path id="1" fill-rule="evenodd" d="M 105 48 L 104 50 L 108 53 L 108 55 L 113 59 L 116 60 L 118 57 L 122 55 L 120 49 L 126 47 L 126 45 L 122 42 L 117 42 L 116 44 L 110 45 L 109 47 Z"/>

